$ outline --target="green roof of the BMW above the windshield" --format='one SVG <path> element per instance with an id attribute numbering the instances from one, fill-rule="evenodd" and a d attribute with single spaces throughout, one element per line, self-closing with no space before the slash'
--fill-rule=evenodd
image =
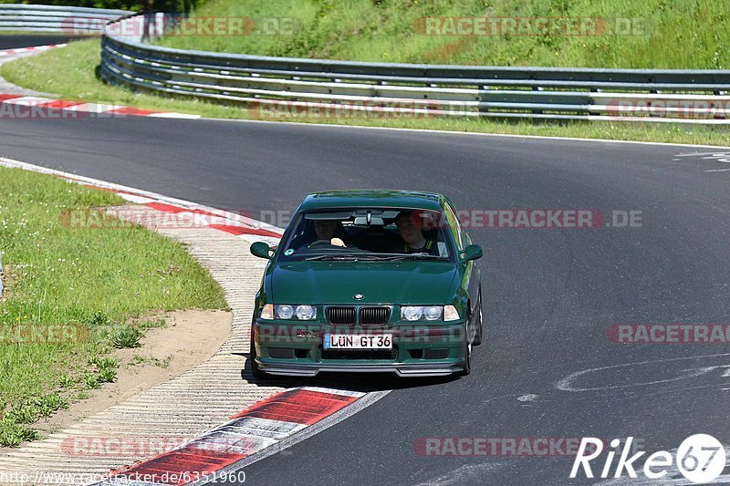
<path id="1" fill-rule="evenodd" d="M 385 207 L 440 211 L 445 198 L 436 192 L 391 189 L 350 189 L 312 192 L 299 211 L 347 207 Z"/>

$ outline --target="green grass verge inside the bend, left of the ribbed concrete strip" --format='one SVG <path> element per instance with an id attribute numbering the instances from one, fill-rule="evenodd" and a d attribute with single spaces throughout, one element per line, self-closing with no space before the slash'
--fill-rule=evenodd
<path id="1" fill-rule="evenodd" d="M 137 346 L 151 311 L 225 307 L 220 286 L 180 243 L 139 226 L 72 227 L 68 211 L 123 203 L 56 177 L 0 167 L 0 445 L 113 381 L 104 355 Z M 124 225 L 122 225 L 124 226 Z M 162 273 L 174 267 L 178 271 Z"/>

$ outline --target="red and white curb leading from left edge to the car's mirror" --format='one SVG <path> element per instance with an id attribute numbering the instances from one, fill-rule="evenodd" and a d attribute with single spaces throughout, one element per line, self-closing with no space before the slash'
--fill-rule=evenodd
<path id="1" fill-rule="evenodd" d="M 19 160 L 11 160 L 0 157 L 0 165 L 16 169 L 25 169 L 26 171 L 43 172 L 52 174 L 66 181 L 76 182 L 87 185 L 95 189 L 111 191 L 120 196 L 120 198 L 141 204 L 151 209 L 164 212 L 169 215 L 166 220 L 158 220 L 162 225 L 169 224 L 179 228 L 195 227 L 195 228 L 212 228 L 235 235 L 237 238 L 247 241 L 248 243 L 266 242 L 276 245 L 279 243 L 284 230 L 259 222 L 245 215 L 236 214 L 235 212 L 227 212 L 215 209 L 209 206 L 203 206 L 195 202 L 184 201 L 182 199 L 171 198 L 157 194 L 151 191 L 142 191 L 128 186 L 115 184 L 107 181 L 99 181 L 89 177 L 78 176 L 69 172 L 47 169 L 34 164 L 29 164 Z"/>

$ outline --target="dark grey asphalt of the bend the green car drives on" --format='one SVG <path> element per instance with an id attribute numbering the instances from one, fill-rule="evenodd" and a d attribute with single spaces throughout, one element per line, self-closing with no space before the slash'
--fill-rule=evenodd
<path id="1" fill-rule="evenodd" d="M 460 210 L 641 212 L 634 228 L 470 229 L 485 248 L 485 344 L 472 374 L 297 382 L 393 391 L 246 468 L 246 483 L 262 485 L 600 481 L 568 480 L 566 457 L 424 457 L 414 448 L 424 438 L 632 436 L 650 452 L 701 432 L 730 442 L 730 346 L 606 336 L 614 323 L 730 322 L 730 171 L 717 171 L 730 167 L 675 157 L 695 151 L 219 120 L 0 120 L 5 157 L 257 219 L 334 188 L 439 191 Z"/>

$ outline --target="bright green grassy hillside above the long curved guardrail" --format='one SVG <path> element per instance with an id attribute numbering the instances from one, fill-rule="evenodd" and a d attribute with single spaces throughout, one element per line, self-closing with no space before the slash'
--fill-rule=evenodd
<path id="1" fill-rule="evenodd" d="M 166 36 L 157 43 L 381 62 L 730 68 L 730 0 L 209 0 L 193 16 L 245 16 L 258 28 L 248 36 Z M 592 18 L 610 30 L 442 36 L 419 28 L 425 17 L 451 16 Z"/>

